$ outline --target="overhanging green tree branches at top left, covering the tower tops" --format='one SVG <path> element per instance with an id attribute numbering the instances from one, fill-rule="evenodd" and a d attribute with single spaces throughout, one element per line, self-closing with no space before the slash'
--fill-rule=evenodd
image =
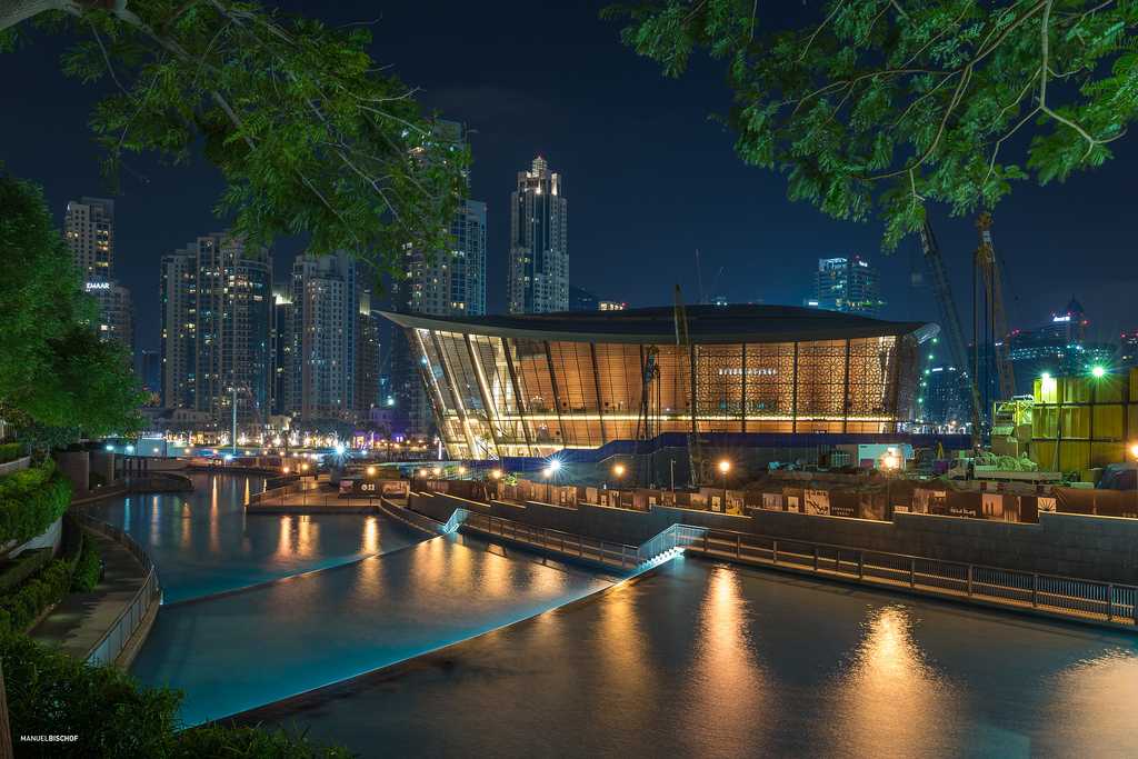
<path id="1" fill-rule="evenodd" d="M 216 211 L 250 242 L 307 234 L 377 274 L 404 246 L 446 247 L 469 155 L 371 59 L 364 26 L 230 0 L 0 0 L 0 47 L 27 18 L 75 39 L 65 73 L 110 83 L 91 117 L 108 176 L 126 154 L 181 163 L 204 145 L 226 182 Z"/>

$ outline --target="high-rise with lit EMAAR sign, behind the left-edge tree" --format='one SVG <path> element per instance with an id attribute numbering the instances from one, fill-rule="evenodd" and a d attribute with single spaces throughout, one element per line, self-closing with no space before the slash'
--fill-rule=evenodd
<path id="1" fill-rule="evenodd" d="M 64 212 L 64 239 L 83 279 L 83 290 L 98 305 L 99 337 L 116 340 L 133 353 L 131 291 L 114 281 L 115 201 L 86 197 L 69 201 Z"/>

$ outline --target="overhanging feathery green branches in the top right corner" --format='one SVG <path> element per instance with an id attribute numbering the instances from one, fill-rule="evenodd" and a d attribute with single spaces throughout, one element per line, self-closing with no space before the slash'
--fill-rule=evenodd
<path id="1" fill-rule="evenodd" d="M 739 156 L 781 171 L 793 200 L 881 217 L 887 249 L 930 201 L 990 209 L 1016 180 L 1100 165 L 1138 117 L 1132 0 L 831 0 L 806 25 L 776 14 L 754 0 L 605 10 L 668 76 L 695 53 L 726 63 Z"/>

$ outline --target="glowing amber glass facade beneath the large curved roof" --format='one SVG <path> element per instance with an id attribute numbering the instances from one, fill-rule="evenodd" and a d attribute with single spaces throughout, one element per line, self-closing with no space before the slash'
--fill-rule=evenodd
<path id="1" fill-rule="evenodd" d="M 693 426 L 893 432 L 916 383 L 915 335 L 685 348 L 452 329 L 462 331 L 409 327 L 407 337 L 439 434 L 461 459 L 549 455 Z"/>

